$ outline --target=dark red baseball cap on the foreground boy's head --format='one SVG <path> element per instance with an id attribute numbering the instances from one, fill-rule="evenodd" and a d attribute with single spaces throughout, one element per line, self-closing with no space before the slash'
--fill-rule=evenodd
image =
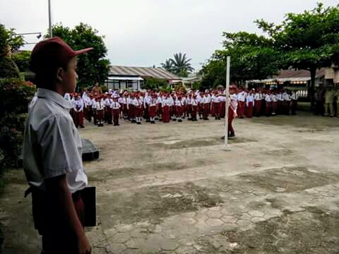
<path id="1" fill-rule="evenodd" d="M 89 52 L 92 47 L 74 51 L 64 40 L 53 37 L 37 43 L 30 56 L 30 69 L 37 73 L 49 66 L 61 67 L 69 63 L 69 60 L 85 52 Z"/>

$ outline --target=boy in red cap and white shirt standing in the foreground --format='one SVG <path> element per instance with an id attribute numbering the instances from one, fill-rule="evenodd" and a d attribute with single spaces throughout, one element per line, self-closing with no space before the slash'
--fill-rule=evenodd
<path id="1" fill-rule="evenodd" d="M 76 89 L 76 56 L 89 50 L 75 52 L 54 37 L 36 44 L 30 58 L 38 90 L 25 123 L 23 169 L 45 254 L 91 252 L 79 193 L 88 184 L 81 138 L 64 99 Z"/>

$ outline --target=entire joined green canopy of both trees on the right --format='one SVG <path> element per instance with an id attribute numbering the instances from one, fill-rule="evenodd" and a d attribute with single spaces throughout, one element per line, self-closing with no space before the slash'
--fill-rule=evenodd
<path id="1" fill-rule="evenodd" d="M 339 64 L 339 5 L 318 4 L 311 11 L 287 13 L 280 25 L 255 20 L 266 35 L 224 32 L 224 49 L 203 66 L 203 83 L 225 83 L 226 56 L 231 56 L 231 80 L 264 79 L 282 68 L 309 70 L 314 87 L 316 69 Z"/>

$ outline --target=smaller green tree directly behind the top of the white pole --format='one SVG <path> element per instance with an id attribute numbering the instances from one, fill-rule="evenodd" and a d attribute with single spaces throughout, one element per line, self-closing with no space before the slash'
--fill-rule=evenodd
<path id="1" fill-rule="evenodd" d="M 280 54 L 273 41 L 248 32 L 224 32 L 224 49 L 216 50 L 201 73 L 204 87 L 225 85 L 226 59 L 231 56 L 230 80 L 244 84 L 246 80 L 265 79 L 278 73 Z"/>

